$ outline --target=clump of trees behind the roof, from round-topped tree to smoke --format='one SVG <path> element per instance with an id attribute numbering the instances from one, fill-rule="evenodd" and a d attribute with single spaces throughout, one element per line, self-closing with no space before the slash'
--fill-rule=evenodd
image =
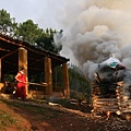
<path id="1" fill-rule="evenodd" d="M 27 20 L 26 22 L 19 24 L 15 36 L 29 44 L 35 44 L 35 46 L 40 49 L 58 53 L 61 50 L 61 47 L 56 47 L 53 43 L 55 33 L 57 33 L 57 31 L 52 31 L 51 28 L 44 31 L 43 28 L 39 28 L 37 24 L 34 24 L 32 20 Z"/>

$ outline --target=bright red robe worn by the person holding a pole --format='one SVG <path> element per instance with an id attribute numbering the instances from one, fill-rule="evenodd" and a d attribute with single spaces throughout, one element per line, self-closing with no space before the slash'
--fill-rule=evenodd
<path id="1" fill-rule="evenodd" d="M 25 99 L 26 98 L 26 76 L 21 71 L 19 73 L 21 75 L 19 75 L 17 79 L 22 82 L 17 82 L 16 92 L 14 94 L 14 97 L 21 97 L 21 98 Z M 23 82 L 25 82 L 25 83 L 23 83 Z"/>

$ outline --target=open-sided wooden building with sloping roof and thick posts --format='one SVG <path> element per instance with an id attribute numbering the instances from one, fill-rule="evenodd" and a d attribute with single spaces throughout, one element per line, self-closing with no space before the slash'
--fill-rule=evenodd
<path id="1" fill-rule="evenodd" d="M 63 78 L 63 94 L 64 97 L 70 97 L 70 83 L 68 74 L 69 59 L 57 53 L 41 50 L 35 46 L 12 37 L 0 34 L 0 86 L 4 86 L 4 74 L 16 74 L 24 67 L 28 78 L 38 72 L 44 72 L 44 82 L 35 83 L 45 88 L 45 95 L 51 96 L 52 90 L 52 70 L 61 67 Z M 55 83 L 55 85 L 57 85 Z M 28 94 L 27 86 L 27 94 Z"/>

